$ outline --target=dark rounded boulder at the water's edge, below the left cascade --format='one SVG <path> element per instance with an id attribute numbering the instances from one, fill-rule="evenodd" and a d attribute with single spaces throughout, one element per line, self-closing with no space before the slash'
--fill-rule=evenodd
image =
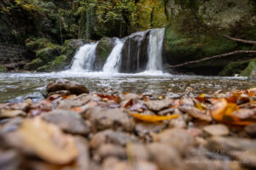
<path id="1" fill-rule="evenodd" d="M 50 82 L 46 90 L 48 93 L 67 90 L 71 94 L 89 94 L 88 88 L 85 88 L 84 85 L 79 82 L 70 82 L 66 79 L 58 79 L 55 82 Z"/>

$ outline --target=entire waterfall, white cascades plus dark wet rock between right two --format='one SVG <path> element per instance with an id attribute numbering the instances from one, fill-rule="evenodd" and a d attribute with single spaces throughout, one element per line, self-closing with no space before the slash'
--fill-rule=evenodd
<path id="1" fill-rule="evenodd" d="M 129 37 L 113 38 L 114 47 L 103 72 L 161 71 L 165 28 L 139 31 Z M 75 54 L 70 71 L 93 71 L 98 42 L 85 44 Z M 100 57 L 97 55 L 97 57 Z"/>

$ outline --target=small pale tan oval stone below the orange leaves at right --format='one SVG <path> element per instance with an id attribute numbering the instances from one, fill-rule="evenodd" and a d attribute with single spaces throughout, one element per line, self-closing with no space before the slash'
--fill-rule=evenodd
<path id="1" fill-rule="evenodd" d="M 223 124 L 208 125 L 204 127 L 203 130 L 212 136 L 225 136 L 230 133 L 229 128 Z"/>

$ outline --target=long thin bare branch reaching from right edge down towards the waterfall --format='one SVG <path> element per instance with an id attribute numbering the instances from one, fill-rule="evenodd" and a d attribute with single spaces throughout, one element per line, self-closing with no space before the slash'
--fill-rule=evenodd
<path id="1" fill-rule="evenodd" d="M 212 57 L 207 57 L 205 59 L 199 59 L 199 60 L 194 60 L 194 61 L 189 61 L 189 62 L 185 62 L 183 64 L 180 65 L 169 65 L 169 68 L 175 68 L 175 67 L 180 67 L 183 65 L 189 65 L 189 64 L 193 64 L 193 63 L 199 63 L 201 61 L 205 61 L 208 59 L 216 59 L 216 58 L 220 58 L 220 57 L 225 57 L 225 56 L 229 56 L 229 55 L 234 55 L 234 54 L 256 54 L 256 50 L 236 50 L 227 54 L 219 54 L 219 55 L 214 55 Z"/>

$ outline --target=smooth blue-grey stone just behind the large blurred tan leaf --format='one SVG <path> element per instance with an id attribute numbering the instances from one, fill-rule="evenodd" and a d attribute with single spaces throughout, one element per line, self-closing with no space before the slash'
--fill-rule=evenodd
<path id="1" fill-rule="evenodd" d="M 42 116 L 44 121 L 55 123 L 67 133 L 86 135 L 90 133 L 90 126 L 84 122 L 82 116 L 75 111 L 54 110 Z"/>

